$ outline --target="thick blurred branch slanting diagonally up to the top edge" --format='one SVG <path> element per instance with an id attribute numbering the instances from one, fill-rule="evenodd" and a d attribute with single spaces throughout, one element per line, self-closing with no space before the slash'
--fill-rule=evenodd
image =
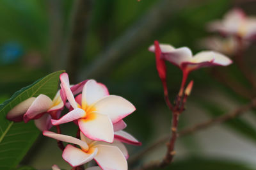
<path id="1" fill-rule="evenodd" d="M 145 43 L 150 41 L 153 43 L 159 28 L 175 17 L 175 13 L 195 1 L 198 2 L 197 0 L 159 1 L 104 52 L 99 54 L 86 70 L 81 70 L 79 79 L 95 79 L 100 75 L 106 75 L 118 61 L 132 56 L 131 54 L 145 46 Z M 196 5 L 199 4 L 196 3 Z"/>

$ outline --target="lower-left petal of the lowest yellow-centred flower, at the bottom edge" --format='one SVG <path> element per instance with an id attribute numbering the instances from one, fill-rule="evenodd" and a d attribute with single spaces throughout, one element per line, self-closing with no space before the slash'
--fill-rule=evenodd
<path id="1" fill-rule="evenodd" d="M 97 155 L 98 149 L 92 150 L 92 153 L 86 153 L 83 150 L 68 144 L 63 151 L 62 157 L 72 167 L 81 166 L 92 160 Z"/>

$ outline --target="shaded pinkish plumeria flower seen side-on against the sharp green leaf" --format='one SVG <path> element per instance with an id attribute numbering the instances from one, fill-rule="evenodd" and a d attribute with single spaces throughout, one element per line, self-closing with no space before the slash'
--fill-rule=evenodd
<path id="1" fill-rule="evenodd" d="M 36 127 L 40 130 L 46 130 L 52 127 L 51 116 L 57 118 L 63 106 L 60 91 L 58 91 L 53 100 L 41 94 L 36 98 L 28 98 L 13 107 L 6 115 L 6 118 L 11 121 L 24 120 L 25 122 L 34 119 Z"/>

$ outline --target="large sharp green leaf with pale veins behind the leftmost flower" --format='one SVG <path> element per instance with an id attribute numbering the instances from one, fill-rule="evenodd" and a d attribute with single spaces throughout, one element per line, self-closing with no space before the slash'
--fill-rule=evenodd
<path id="1" fill-rule="evenodd" d="M 6 119 L 6 114 L 27 98 L 40 94 L 53 98 L 58 90 L 59 76 L 62 72 L 64 71 L 51 73 L 20 89 L 0 105 L 0 169 L 16 167 L 40 134 L 33 121 L 13 123 Z"/>

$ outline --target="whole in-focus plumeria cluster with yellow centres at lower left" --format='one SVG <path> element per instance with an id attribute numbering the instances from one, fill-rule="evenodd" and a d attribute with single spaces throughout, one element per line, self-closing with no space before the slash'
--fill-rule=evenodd
<path id="1" fill-rule="evenodd" d="M 86 80 L 70 86 L 68 74 L 60 75 L 61 89 L 54 100 L 46 95 L 28 98 L 7 114 L 12 121 L 35 120 L 36 127 L 47 137 L 68 144 L 63 159 L 77 167 L 94 159 L 102 169 L 127 169 L 129 157 L 123 143 L 141 143 L 123 129 L 123 118 L 135 111 L 134 105 L 125 98 L 109 95 L 108 88 L 95 80 Z M 61 118 L 61 111 L 68 113 Z M 77 137 L 48 131 L 52 125 L 73 121 L 79 130 Z"/>

